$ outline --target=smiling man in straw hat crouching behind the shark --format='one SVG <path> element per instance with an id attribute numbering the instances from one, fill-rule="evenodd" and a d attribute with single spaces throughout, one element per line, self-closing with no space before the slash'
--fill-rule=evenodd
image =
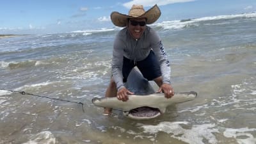
<path id="1" fill-rule="evenodd" d="M 170 62 L 166 56 L 161 39 L 152 24 L 160 17 L 157 5 L 145 12 L 142 5 L 133 5 L 129 15 L 111 13 L 115 26 L 125 27 L 116 35 L 113 45 L 112 77 L 105 97 L 117 97 L 126 101 L 134 94 L 125 88 L 124 83 L 133 67 L 138 67 L 143 77 L 155 81 L 158 92 L 166 98 L 174 95 L 170 84 Z M 111 113 L 111 108 L 104 108 L 104 115 Z"/>

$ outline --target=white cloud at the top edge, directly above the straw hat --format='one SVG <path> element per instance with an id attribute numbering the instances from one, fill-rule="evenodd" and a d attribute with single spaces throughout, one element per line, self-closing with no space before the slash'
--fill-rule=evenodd
<path id="1" fill-rule="evenodd" d="M 196 0 L 132 0 L 129 1 L 128 3 L 124 3 L 123 6 L 125 6 L 125 8 L 131 8 L 132 4 L 142 4 L 143 6 L 154 6 L 155 4 L 157 4 L 158 6 L 164 6 L 167 4 L 172 4 L 172 3 L 186 3 L 189 1 L 196 1 Z"/>

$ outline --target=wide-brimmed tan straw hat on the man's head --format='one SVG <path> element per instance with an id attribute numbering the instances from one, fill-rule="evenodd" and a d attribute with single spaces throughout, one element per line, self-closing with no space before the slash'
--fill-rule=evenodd
<path id="1" fill-rule="evenodd" d="M 142 5 L 133 4 L 128 15 L 124 15 L 118 12 L 112 12 L 110 17 L 115 24 L 115 26 L 125 27 L 127 24 L 127 19 L 131 18 L 146 18 L 146 24 L 152 24 L 160 17 L 161 11 L 159 10 L 157 4 L 145 12 Z"/>

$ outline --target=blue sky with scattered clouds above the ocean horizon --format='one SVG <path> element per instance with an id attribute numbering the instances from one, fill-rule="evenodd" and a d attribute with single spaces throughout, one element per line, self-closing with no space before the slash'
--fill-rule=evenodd
<path id="1" fill-rule="evenodd" d="M 111 12 L 157 4 L 157 22 L 256 12 L 256 0 L 0 0 L 1 34 L 46 34 L 113 28 Z"/>

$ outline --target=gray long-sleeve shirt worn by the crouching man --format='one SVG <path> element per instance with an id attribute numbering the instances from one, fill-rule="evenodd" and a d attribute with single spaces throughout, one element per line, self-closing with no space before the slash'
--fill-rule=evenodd
<path id="1" fill-rule="evenodd" d="M 147 58 L 150 50 L 154 51 L 159 61 L 163 83 L 170 84 L 170 62 L 156 31 L 147 26 L 143 35 L 135 40 L 128 29 L 124 28 L 116 35 L 113 45 L 112 74 L 118 90 L 125 87 L 122 75 L 124 56 L 130 60 L 141 61 Z"/>

